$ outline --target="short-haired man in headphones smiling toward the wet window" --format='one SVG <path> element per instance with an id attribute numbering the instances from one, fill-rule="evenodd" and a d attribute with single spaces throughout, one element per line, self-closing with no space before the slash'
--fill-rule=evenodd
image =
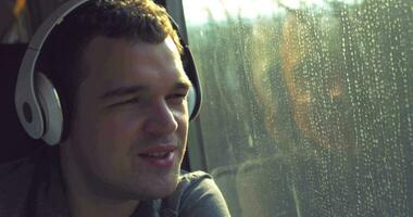
<path id="1" fill-rule="evenodd" d="M 191 82 L 164 9 L 89 1 L 41 52 L 68 130 L 0 167 L 0 216 L 229 216 L 206 174 L 180 173 Z"/>

